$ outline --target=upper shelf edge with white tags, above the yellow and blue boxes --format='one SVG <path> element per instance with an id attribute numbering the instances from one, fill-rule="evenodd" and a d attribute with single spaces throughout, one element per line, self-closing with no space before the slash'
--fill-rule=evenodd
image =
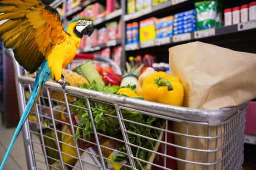
<path id="1" fill-rule="evenodd" d="M 130 20 L 133 20 L 133 19 L 136 19 L 136 18 L 140 18 L 144 15 L 148 15 L 148 14 L 152 14 L 152 13 L 155 13 L 155 12 L 159 12 L 163 9 L 167 9 L 167 8 L 170 8 L 171 6 L 175 6 L 179 3 L 184 3 L 186 1 L 189 1 L 189 0 L 169 0 L 165 3 L 160 3 L 159 5 L 157 6 L 152 6 L 152 7 L 149 7 L 147 9 L 143 9 L 139 12 L 135 12 L 135 13 L 132 13 L 132 14 L 126 14 L 123 16 L 123 20 L 124 21 L 130 21 Z"/>

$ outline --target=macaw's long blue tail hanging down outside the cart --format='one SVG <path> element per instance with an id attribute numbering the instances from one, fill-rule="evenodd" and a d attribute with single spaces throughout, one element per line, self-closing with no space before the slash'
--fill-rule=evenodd
<path id="1" fill-rule="evenodd" d="M 11 143 L 9 144 L 9 147 L 6 151 L 4 158 L 3 158 L 3 161 L 0 166 L 0 170 L 3 170 L 3 167 L 7 161 L 7 158 L 9 157 L 9 154 L 12 150 L 13 144 L 14 144 L 15 140 L 17 139 L 19 132 L 22 129 L 22 126 L 24 125 L 24 122 L 28 118 L 28 115 L 31 112 L 31 109 L 33 108 L 33 106 L 35 104 L 35 101 L 37 101 L 37 98 L 39 96 L 40 89 L 41 89 L 42 85 L 45 84 L 45 82 L 48 81 L 50 78 L 51 78 L 51 70 L 48 67 L 48 62 L 46 60 L 44 60 L 43 63 L 41 64 L 41 69 L 40 69 L 39 73 L 37 74 L 33 90 L 31 92 L 30 98 L 28 99 L 28 103 L 25 107 L 24 112 L 22 113 L 19 124 L 13 134 Z"/>

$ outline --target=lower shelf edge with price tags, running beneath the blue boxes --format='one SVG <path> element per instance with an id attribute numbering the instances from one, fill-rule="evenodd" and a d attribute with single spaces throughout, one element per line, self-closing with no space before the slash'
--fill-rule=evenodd
<path id="1" fill-rule="evenodd" d="M 126 51 L 138 50 L 141 48 L 156 47 L 160 45 L 173 44 L 176 42 L 193 41 L 211 36 L 220 36 L 230 33 L 239 33 L 240 31 L 256 29 L 256 21 L 248 21 L 241 24 L 235 24 L 228 27 L 211 28 L 207 30 L 195 31 L 194 33 L 185 33 L 172 37 L 156 39 L 154 41 L 143 42 L 140 44 L 130 44 L 125 46 Z"/>

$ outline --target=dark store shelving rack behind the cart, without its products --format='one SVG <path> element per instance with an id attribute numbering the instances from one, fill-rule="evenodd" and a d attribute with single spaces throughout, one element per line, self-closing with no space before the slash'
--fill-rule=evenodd
<path id="1" fill-rule="evenodd" d="M 256 30 L 256 21 L 249 21 L 242 24 L 236 24 L 228 27 L 213 28 L 209 30 L 195 31 L 194 33 L 186 33 L 181 35 L 176 35 L 163 39 L 156 39 L 150 42 L 144 42 L 139 44 L 126 45 L 126 24 L 133 21 L 141 21 L 145 18 L 150 17 L 164 17 L 167 15 L 173 15 L 177 12 L 182 12 L 185 10 L 193 9 L 194 3 L 197 0 L 168 0 L 165 3 L 160 3 L 157 6 L 152 6 L 151 8 L 135 12 L 133 14 L 127 14 L 126 4 L 127 0 L 121 0 L 121 9 L 106 15 L 105 17 L 98 18 L 93 21 L 95 27 L 100 28 L 108 21 L 117 21 L 121 18 L 122 24 L 122 37 L 116 41 L 110 41 L 106 44 L 97 45 L 89 49 L 79 50 L 81 53 L 91 53 L 93 51 L 98 51 L 107 47 L 114 47 L 116 45 L 122 46 L 122 57 L 121 57 L 121 67 L 125 66 L 125 62 L 130 55 L 137 55 L 139 53 L 143 54 L 161 54 L 164 57 L 160 58 L 160 61 L 168 61 L 168 48 L 179 45 L 186 42 L 193 41 L 203 41 L 219 45 L 222 47 L 231 48 L 233 50 L 254 52 L 256 41 L 252 40 L 249 32 Z M 105 0 L 85 0 L 79 6 L 77 6 L 72 11 L 68 12 L 63 18 L 64 20 L 70 19 L 72 16 L 82 11 L 86 6 L 92 3 L 104 4 Z M 230 8 L 236 5 L 241 5 L 244 3 L 249 3 L 250 0 L 225 0 L 224 7 Z M 60 4 L 65 4 L 66 0 L 56 0 L 52 3 L 53 7 L 59 6 Z M 248 32 L 248 33 L 247 33 Z M 232 37 L 233 36 L 233 37 Z M 248 43 L 250 42 L 250 43 Z M 227 45 L 227 43 L 229 43 Z M 250 47 L 247 47 L 247 43 Z M 242 44 L 242 45 L 241 45 Z M 247 47 L 246 49 L 241 49 L 242 47 Z M 139 54 L 141 55 L 141 54 Z"/>

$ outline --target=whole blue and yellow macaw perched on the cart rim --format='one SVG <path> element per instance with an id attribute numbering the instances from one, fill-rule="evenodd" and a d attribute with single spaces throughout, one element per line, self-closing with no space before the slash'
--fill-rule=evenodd
<path id="1" fill-rule="evenodd" d="M 5 48 L 12 48 L 15 59 L 30 73 L 41 68 L 37 74 L 28 103 L 20 118 L 0 170 L 11 152 L 12 146 L 29 113 L 37 102 L 43 84 L 54 78 L 65 88 L 62 68 L 76 54 L 83 35 L 93 33 L 88 18 L 75 18 L 63 29 L 58 12 L 40 0 L 0 0 L 0 41 Z"/>

